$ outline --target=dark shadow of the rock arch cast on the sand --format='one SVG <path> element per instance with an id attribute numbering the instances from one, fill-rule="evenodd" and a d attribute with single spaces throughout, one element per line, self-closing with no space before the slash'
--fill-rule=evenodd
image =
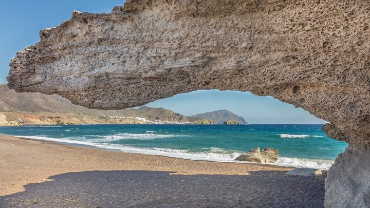
<path id="1" fill-rule="evenodd" d="M 278 171 L 251 175 L 172 173 L 70 172 L 52 176 L 52 181 L 29 184 L 23 192 L 1 196 L 0 207 L 324 207 L 324 181 L 314 177 L 284 176 Z"/>

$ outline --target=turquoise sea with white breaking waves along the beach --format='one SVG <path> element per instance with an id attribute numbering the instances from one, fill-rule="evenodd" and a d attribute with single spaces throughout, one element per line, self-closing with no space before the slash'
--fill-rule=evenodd
<path id="1" fill-rule="evenodd" d="M 345 142 L 322 125 L 66 125 L 0 127 L 0 134 L 192 160 L 234 162 L 255 147 L 278 149 L 277 165 L 329 169 Z"/>

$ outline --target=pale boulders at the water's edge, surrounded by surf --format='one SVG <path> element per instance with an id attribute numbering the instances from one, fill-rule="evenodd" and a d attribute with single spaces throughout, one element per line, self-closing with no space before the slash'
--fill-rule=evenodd
<path id="1" fill-rule="evenodd" d="M 275 163 L 278 157 L 279 151 L 277 149 L 266 148 L 260 151 L 259 147 L 256 147 L 235 158 L 235 160 L 255 163 Z"/>

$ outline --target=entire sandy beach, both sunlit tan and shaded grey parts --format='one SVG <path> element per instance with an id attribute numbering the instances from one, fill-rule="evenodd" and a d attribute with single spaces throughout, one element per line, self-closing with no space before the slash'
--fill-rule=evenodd
<path id="1" fill-rule="evenodd" d="M 289 170 L 0 135 L 0 207 L 323 207 L 323 178 Z"/>

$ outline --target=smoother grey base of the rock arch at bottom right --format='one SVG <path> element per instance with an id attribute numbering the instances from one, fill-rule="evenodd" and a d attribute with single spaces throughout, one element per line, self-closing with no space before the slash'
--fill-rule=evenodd
<path id="1" fill-rule="evenodd" d="M 370 206 L 369 146 L 350 145 L 339 154 L 325 180 L 325 206 L 368 208 Z"/>

